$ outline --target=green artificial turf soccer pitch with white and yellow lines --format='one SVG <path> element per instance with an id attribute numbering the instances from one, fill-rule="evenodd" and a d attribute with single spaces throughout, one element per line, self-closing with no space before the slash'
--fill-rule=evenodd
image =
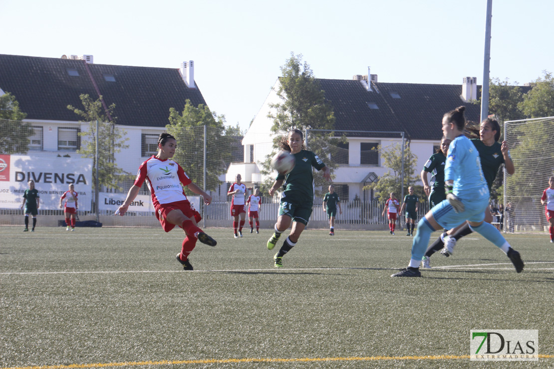
<path id="1" fill-rule="evenodd" d="M 423 278 L 391 278 L 402 231 L 308 230 L 282 269 L 270 230 L 207 232 L 218 245 L 198 243 L 184 272 L 182 231 L 0 227 L 0 369 L 508 366 L 469 360 L 472 329 L 538 330 L 524 365 L 554 367 L 547 235 L 507 235 L 521 274 L 470 235 Z"/>

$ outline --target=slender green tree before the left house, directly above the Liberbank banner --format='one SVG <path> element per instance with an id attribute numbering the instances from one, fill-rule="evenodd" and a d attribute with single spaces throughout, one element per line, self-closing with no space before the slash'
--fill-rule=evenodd
<path id="1" fill-rule="evenodd" d="M 81 143 L 78 153 L 85 158 L 96 160 L 96 136 L 98 135 L 98 181 L 101 186 L 109 189 L 121 190 L 118 184 L 124 178 L 122 175 L 128 174 L 122 170 L 115 162 L 115 154 L 126 149 L 129 145 L 125 142 L 126 131 L 115 125 L 115 119 L 109 120 L 108 113 L 114 117 L 115 104 L 107 108 L 107 112 L 102 106 L 101 97 L 93 101 L 89 95 L 80 95 L 83 110 L 68 105 L 68 109 L 81 117 L 79 122 L 89 123 L 89 129 L 85 132 L 79 132 L 79 136 L 85 137 Z M 96 132 L 96 121 L 98 120 L 98 132 Z M 96 163 L 94 162 L 94 165 Z M 93 183 L 96 181 L 96 171 L 93 170 Z"/>

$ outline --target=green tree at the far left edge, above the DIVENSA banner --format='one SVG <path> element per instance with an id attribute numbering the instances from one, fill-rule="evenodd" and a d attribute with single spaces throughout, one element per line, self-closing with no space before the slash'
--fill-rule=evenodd
<path id="1" fill-rule="evenodd" d="M 27 153 L 34 129 L 30 123 L 22 122 L 25 117 L 15 96 L 9 92 L 0 96 L 0 153 Z"/>

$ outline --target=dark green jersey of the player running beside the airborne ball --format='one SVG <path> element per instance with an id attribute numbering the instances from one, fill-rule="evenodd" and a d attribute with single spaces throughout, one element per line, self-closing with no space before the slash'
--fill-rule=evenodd
<path id="1" fill-rule="evenodd" d="M 316 154 L 308 150 L 300 150 L 294 155 L 296 164 L 289 174 L 280 174 L 275 180 L 284 179 L 283 187 L 285 191 L 294 191 L 295 196 L 305 196 L 314 201 L 314 175 L 312 167 L 321 170 L 325 164 Z"/>

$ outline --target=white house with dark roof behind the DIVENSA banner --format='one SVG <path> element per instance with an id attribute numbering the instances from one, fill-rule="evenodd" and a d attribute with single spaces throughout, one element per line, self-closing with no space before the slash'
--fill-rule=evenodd
<path id="1" fill-rule="evenodd" d="M 169 111 L 181 111 L 188 99 L 206 105 L 194 82 L 193 61 L 180 68 L 94 64 L 92 55 L 57 58 L 0 54 L 0 94 L 10 92 L 33 124 L 29 147 L 33 155 L 71 155 L 80 147 L 78 132 L 88 130 L 67 106 L 82 108 L 79 96 L 102 96 L 115 104 L 116 123 L 124 127 L 129 148 L 116 154 L 118 165 L 135 173 L 157 152 Z"/>

